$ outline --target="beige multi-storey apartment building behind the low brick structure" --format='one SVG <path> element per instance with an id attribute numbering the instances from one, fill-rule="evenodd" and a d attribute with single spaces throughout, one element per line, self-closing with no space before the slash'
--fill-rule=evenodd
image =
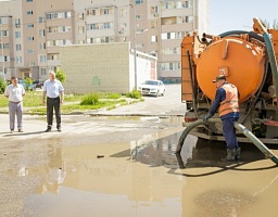
<path id="1" fill-rule="evenodd" d="M 130 41 L 157 58 L 159 78 L 180 81 L 184 36 L 207 30 L 207 0 L 0 1 L 3 76 L 46 79 L 60 47 Z"/>

